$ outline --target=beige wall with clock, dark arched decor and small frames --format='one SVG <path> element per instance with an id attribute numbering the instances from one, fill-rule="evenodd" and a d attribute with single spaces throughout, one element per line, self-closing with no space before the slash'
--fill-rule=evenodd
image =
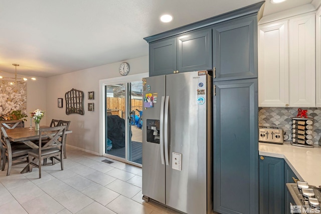
<path id="1" fill-rule="evenodd" d="M 130 65 L 128 76 L 148 72 L 148 56 L 126 62 Z M 46 122 L 49 125 L 53 118 L 71 121 L 69 129 L 73 133 L 67 136 L 68 145 L 99 154 L 99 80 L 120 77 L 118 72 L 120 63 L 47 78 Z M 73 88 L 84 92 L 84 115 L 66 115 L 65 93 Z M 88 91 L 95 92 L 94 100 L 88 100 Z M 63 108 L 57 107 L 58 98 L 63 98 Z M 94 111 L 87 110 L 88 103 L 94 103 Z"/>

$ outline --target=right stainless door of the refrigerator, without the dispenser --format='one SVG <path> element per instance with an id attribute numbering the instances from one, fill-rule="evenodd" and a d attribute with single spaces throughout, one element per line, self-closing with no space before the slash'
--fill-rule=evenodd
<path id="1" fill-rule="evenodd" d="M 186 213 L 207 213 L 207 103 L 212 102 L 207 97 L 207 77 L 198 72 L 166 77 L 169 151 L 165 152 L 170 158 L 166 204 Z M 173 169 L 173 152 L 182 154 L 181 170 Z"/>

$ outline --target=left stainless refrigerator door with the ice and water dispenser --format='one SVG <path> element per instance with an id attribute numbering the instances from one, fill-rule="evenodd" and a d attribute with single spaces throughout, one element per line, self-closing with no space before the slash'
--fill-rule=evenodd
<path id="1" fill-rule="evenodd" d="M 161 161 L 161 149 L 164 147 L 161 148 L 160 143 L 146 141 L 146 119 L 161 120 L 161 99 L 165 96 L 165 76 L 145 79 L 143 97 L 145 94 L 153 94 L 157 98 L 153 107 L 144 108 L 142 114 L 142 194 L 165 203 L 165 164 Z"/>

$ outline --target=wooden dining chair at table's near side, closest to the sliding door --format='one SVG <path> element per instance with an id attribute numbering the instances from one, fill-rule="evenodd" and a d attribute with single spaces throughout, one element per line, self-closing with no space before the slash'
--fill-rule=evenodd
<path id="1" fill-rule="evenodd" d="M 39 148 L 28 152 L 29 154 L 29 171 L 33 167 L 39 168 L 39 178 L 41 178 L 41 162 L 45 158 L 55 158 L 60 161 L 61 170 L 64 170 L 63 164 L 63 142 L 65 138 L 66 126 L 56 126 L 50 128 L 40 128 L 39 130 Z M 45 144 L 42 143 L 43 138 L 48 138 Z M 38 161 L 38 164 L 36 160 Z M 54 161 L 53 161 L 54 164 Z"/>

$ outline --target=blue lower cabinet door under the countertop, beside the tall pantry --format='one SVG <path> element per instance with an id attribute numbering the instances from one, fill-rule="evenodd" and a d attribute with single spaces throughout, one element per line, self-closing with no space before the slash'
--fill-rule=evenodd
<path id="1" fill-rule="evenodd" d="M 260 214 L 284 214 L 284 159 L 260 156 Z"/>

